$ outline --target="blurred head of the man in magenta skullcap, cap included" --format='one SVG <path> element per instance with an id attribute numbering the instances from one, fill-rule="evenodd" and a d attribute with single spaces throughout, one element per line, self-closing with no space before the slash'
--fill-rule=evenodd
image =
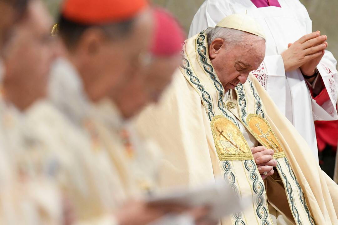
<path id="1" fill-rule="evenodd" d="M 152 9 L 154 32 L 149 51 L 141 55 L 141 66 L 129 66 L 131 77 L 110 99 L 125 119 L 138 114 L 147 104 L 159 101 L 180 63 L 184 34 L 176 19 L 162 8 Z"/>

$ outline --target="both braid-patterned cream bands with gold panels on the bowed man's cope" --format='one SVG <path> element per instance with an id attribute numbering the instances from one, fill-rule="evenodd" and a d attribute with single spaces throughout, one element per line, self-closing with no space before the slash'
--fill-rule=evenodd
<path id="1" fill-rule="evenodd" d="M 232 224 L 273 224 L 268 211 L 264 181 L 238 128 L 237 117 L 259 143 L 275 151 L 277 171 L 282 178 L 296 224 L 314 225 L 304 193 L 285 156 L 283 146 L 265 119 L 263 105 L 251 81 L 236 87 L 236 98 L 230 96 L 232 103 L 223 103 L 224 89 L 210 62 L 207 37 L 203 31 L 186 40 L 180 70 L 200 95 L 211 121 L 215 151 L 224 178 L 239 196 L 251 196 L 252 208 L 234 214 Z"/>

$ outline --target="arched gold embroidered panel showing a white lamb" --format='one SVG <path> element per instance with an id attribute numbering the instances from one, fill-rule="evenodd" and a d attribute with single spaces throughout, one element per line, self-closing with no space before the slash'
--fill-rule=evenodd
<path id="1" fill-rule="evenodd" d="M 231 120 L 215 116 L 211 121 L 211 132 L 220 161 L 253 159 L 242 132 Z"/>

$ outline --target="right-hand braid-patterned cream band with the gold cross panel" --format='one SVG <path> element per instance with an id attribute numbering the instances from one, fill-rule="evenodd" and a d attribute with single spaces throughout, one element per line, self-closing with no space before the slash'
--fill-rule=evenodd
<path id="1" fill-rule="evenodd" d="M 269 122 L 265 119 L 263 105 L 251 81 L 248 79 L 245 84 L 239 84 L 235 88 L 235 91 L 237 95 L 236 99 L 233 99 L 232 96 L 230 99 L 232 102 L 236 102 L 237 109 L 230 109 L 230 111 L 261 145 L 275 151 L 274 159 L 277 161 L 276 169 L 283 182 L 295 223 L 299 225 L 316 224 L 306 204 L 303 190 L 284 153 L 284 147 L 276 137 Z M 248 102 L 248 99 L 251 101 Z M 250 105 L 250 102 L 255 104 Z"/>

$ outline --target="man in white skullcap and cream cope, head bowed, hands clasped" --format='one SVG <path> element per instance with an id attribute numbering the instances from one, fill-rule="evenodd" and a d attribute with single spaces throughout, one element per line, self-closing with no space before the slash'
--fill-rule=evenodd
<path id="1" fill-rule="evenodd" d="M 249 74 L 264 56 L 262 28 L 246 15 L 228 16 L 185 41 L 170 89 L 136 121 L 163 148 L 161 184 L 193 187 L 223 176 L 251 203 L 222 225 L 338 224 L 337 184 Z M 258 148 L 274 151 L 271 176 L 262 173 Z"/>

